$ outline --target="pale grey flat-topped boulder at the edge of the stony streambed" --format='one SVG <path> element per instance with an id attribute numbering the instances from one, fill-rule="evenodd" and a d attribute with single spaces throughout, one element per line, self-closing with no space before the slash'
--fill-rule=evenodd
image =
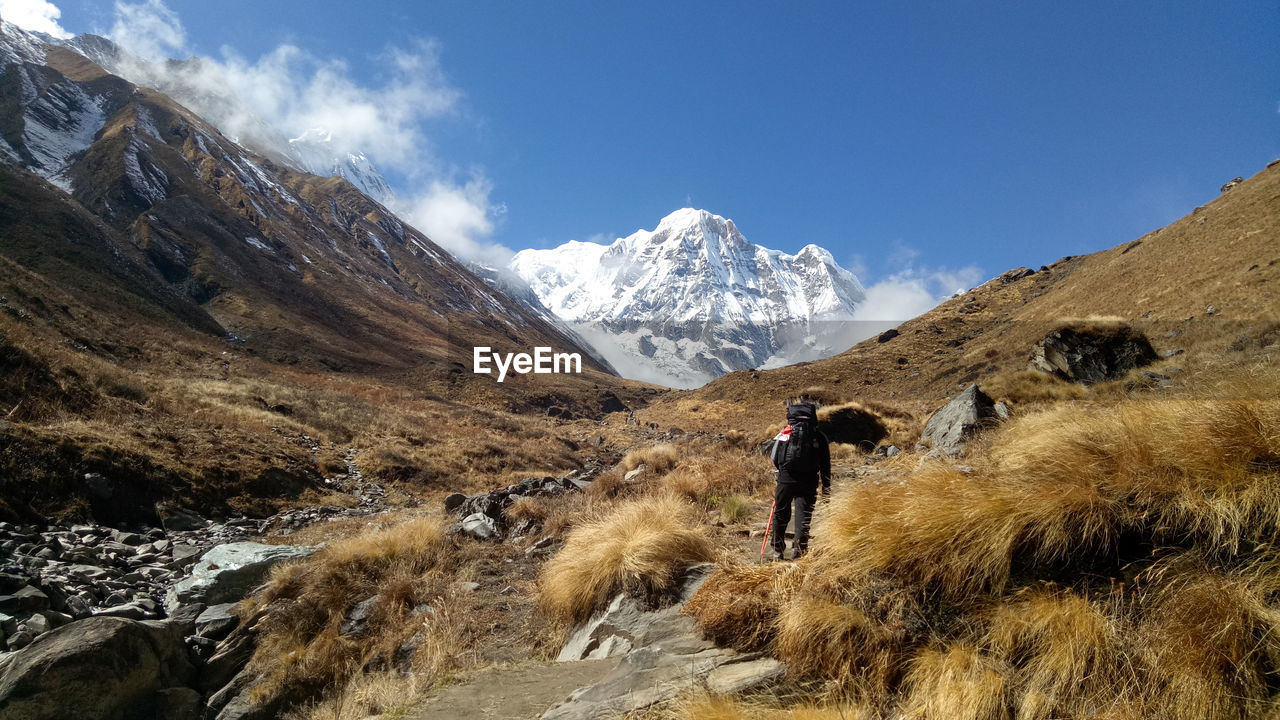
<path id="1" fill-rule="evenodd" d="M 238 602 L 256 588 L 273 565 L 306 557 L 314 547 L 233 542 L 220 544 L 196 562 L 191 577 L 169 589 L 165 607 L 173 612 L 187 602 Z"/>

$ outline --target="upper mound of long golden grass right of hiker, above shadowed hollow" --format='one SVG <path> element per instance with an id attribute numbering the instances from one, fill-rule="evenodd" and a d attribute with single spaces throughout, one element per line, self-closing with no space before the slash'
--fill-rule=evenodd
<path id="1" fill-rule="evenodd" d="M 1015 557 L 1106 555 L 1128 532 L 1231 553 L 1280 520 L 1271 397 L 1062 406 L 1011 421 L 992 442 L 973 475 L 927 464 L 901 484 L 841 493 L 817 550 L 846 573 L 891 571 L 966 597 L 1005 587 Z"/>

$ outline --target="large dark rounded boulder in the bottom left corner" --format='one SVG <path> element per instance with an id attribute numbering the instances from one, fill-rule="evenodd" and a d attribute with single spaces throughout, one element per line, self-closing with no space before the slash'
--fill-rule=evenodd
<path id="1" fill-rule="evenodd" d="M 192 669 L 165 623 L 88 618 L 36 638 L 0 661 L 0 716 L 111 720 L 154 707 Z"/>

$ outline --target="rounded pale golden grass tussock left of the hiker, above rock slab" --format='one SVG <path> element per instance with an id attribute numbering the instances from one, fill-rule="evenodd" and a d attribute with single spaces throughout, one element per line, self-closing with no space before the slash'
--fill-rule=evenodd
<path id="1" fill-rule="evenodd" d="M 539 603 L 557 621 L 585 620 L 618 592 L 659 594 L 680 573 L 714 557 L 691 505 L 653 496 L 575 527 L 543 566 Z"/>

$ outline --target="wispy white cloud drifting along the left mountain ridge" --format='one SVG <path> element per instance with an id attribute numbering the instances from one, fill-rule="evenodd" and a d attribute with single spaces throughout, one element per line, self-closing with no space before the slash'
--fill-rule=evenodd
<path id="1" fill-rule="evenodd" d="M 335 154 L 362 152 L 403 178 L 392 209 L 431 240 L 466 259 L 509 256 L 492 242 L 504 211 L 490 199 L 493 182 L 483 169 L 439 159 L 428 136 L 430 122 L 461 115 L 463 96 L 435 41 L 387 49 L 376 58 L 383 79 L 367 83 L 343 59 L 287 44 L 256 60 L 223 47 L 216 59 L 161 63 L 192 55 L 180 18 L 163 0 L 116 1 L 109 37 L 142 59 L 125 68 L 131 79 L 187 88 L 184 101 L 228 136 L 283 154 L 289 138 L 323 128 Z"/>

